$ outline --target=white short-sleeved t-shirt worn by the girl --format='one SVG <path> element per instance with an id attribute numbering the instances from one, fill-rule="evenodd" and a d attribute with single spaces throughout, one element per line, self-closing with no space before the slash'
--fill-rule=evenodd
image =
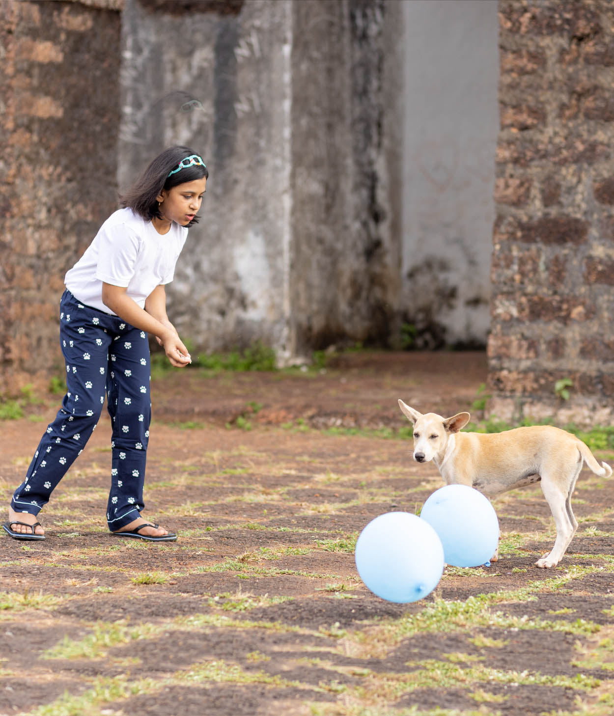
<path id="1" fill-rule="evenodd" d="M 113 314 L 102 303 L 102 282 L 125 286 L 126 294 L 141 307 L 160 284 L 173 280 L 175 265 L 188 229 L 171 223 L 168 233 L 130 208 L 112 213 L 102 224 L 83 256 L 64 276 L 66 288 L 82 304 Z"/>

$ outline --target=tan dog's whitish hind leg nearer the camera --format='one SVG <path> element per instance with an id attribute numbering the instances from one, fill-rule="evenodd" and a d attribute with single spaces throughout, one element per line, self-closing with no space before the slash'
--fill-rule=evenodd
<path id="1" fill-rule="evenodd" d="M 550 552 L 535 562 L 537 567 L 557 566 L 567 551 L 567 547 L 570 546 L 577 529 L 577 520 L 571 508 L 571 496 L 581 469 L 582 463 L 580 462 L 573 466 L 571 473 L 567 468 L 567 475 L 560 475 L 558 478 L 552 478 L 552 475 L 542 475 L 542 492 L 550 505 L 552 517 L 555 519 L 557 538 Z"/>

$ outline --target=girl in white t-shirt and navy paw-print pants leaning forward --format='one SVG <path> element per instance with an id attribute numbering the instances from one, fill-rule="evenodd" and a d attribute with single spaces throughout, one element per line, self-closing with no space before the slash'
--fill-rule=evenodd
<path id="1" fill-rule="evenodd" d="M 189 147 L 167 149 L 121 198 L 64 278 L 59 337 L 67 393 L 13 495 L 4 530 L 42 540 L 37 515 L 96 427 L 107 395 L 112 425 L 107 524 L 113 534 L 150 541 L 176 535 L 140 515 L 149 437 L 149 346 L 153 334 L 175 367 L 190 362 L 166 315 L 164 285 L 197 223 L 208 171 Z"/>

